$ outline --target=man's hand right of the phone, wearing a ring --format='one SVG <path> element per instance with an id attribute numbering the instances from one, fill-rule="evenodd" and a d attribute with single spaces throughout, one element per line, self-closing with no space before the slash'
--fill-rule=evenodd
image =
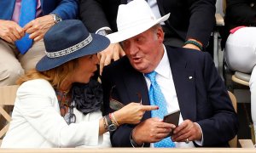
<path id="1" fill-rule="evenodd" d="M 202 137 L 201 128 L 190 120 L 185 120 L 173 131 L 172 141 L 185 142 L 186 139 L 189 141 L 200 140 Z"/>

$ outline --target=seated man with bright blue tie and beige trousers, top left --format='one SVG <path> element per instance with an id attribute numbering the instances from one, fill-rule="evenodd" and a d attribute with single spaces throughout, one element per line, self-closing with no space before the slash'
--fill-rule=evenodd
<path id="1" fill-rule="evenodd" d="M 77 0 L 0 1 L 0 86 L 15 84 L 34 68 L 44 56 L 45 32 L 77 14 Z"/>

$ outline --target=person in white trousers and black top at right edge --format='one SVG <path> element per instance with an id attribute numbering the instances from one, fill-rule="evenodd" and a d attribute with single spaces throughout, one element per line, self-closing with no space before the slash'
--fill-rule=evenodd
<path id="1" fill-rule="evenodd" d="M 237 27 L 246 26 L 246 27 Z M 256 135 L 256 1 L 227 0 L 225 36 L 226 63 L 232 71 L 251 73 L 251 110 Z M 227 34 L 228 33 L 228 34 Z M 224 39 L 225 39 L 224 36 Z"/>

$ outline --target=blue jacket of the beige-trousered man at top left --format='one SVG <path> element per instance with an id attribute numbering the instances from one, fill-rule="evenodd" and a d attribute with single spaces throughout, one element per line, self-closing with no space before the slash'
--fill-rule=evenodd
<path id="1" fill-rule="evenodd" d="M 78 0 L 41 0 L 43 15 L 58 14 L 62 20 L 76 19 Z M 15 0 L 0 1 L 0 19 L 11 20 L 15 9 Z"/>

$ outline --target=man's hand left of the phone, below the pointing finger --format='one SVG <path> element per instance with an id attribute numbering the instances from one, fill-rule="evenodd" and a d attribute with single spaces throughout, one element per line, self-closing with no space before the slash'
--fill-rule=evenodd
<path id="1" fill-rule="evenodd" d="M 134 128 L 132 139 L 137 144 L 158 142 L 165 139 L 173 128 L 175 125 L 163 122 L 159 118 L 149 118 Z"/>

